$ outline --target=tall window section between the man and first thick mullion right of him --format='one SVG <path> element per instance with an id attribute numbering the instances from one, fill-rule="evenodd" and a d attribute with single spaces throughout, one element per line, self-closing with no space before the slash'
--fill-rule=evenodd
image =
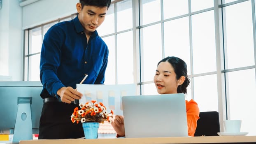
<path id="1" fill-rule="evenodd" d="M 105 84 L 135 83 L 132 2 L 122 0 L 112 3 L 105 21 L 97 29 L 109 47 Z"/>

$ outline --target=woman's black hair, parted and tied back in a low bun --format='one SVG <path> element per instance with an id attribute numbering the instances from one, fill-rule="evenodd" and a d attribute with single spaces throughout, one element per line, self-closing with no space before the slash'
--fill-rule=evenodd
<path id="1" fill-rule="evenodd" d="M 177 93 L 187 93 L 187 87 L 189 86 L 190 79 L 188 78 L 188 69 L 187 69 L 187 64 L 184 62 L 184 60 L 177 58 L 175 56 L 168 56 L 166 58 L 163 58 L 161 61 L 158 62 L 157 65 L 161 62 L 169 62 L 173 69 L 174 72 L 176 73 L 176 79 L 178 80 L 180 77 L 184 76 L 185 80 L 182 85 L 179 85 L 177 88 Z"/>

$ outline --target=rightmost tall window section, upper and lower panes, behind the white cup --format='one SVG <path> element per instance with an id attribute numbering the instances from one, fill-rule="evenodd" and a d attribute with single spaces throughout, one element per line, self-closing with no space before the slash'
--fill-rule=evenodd
<path id="1" fill-rule="evenodd" d="M 254 0 L 236 1 L 223 7 L 227 117 L 242 119 L 241 131 L 249 131 L 250 135 L 256 134 L 249 125 L 256 116 L 245 112 L 256 109 L 253 103 L 256 92 L 254 3 Z"/>

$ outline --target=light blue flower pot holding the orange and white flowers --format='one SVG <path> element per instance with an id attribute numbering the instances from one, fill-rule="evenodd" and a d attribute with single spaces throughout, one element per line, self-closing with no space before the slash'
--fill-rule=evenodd
<path id="1" fill-rule="evenodd" d="M 100 123 L 83 123 L 85 139 L 97 139 Z"/>

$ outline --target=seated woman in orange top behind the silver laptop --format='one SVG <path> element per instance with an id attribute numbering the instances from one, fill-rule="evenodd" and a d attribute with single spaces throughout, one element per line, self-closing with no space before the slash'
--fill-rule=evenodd
<path id="1" fill-rule="evenodd" d="M 166 57 L 162 59 L 156 69 L 154 83 L 159 94 L 187 93 L 190 80 L 187 76 L 186 63 L 177 57 Z M 199 108 L 194 100 L 186 100 L 186 113 L 188 123 L 188 134 L 194 136 L 196 122 L 199 119 Z M 116 116 L 112 123 L 117 137 L 125 136 L 123 116 Z"/>

